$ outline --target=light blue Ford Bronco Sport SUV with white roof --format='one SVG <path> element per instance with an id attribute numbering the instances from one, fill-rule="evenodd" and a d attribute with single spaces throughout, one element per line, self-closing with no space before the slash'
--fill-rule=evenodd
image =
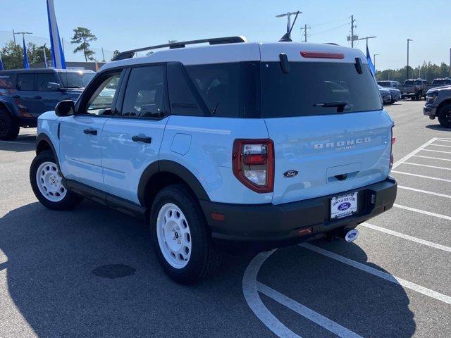
<path id="1" fill-rule="evenodd" d="M 194 283 L 223 250 L 355 238 L 395 201 L 392 127 L 356 49 L 177 42 L 124 52 L 39 116 L 30 180 L 48 208 L 143 218 L 166 273 Z"/>

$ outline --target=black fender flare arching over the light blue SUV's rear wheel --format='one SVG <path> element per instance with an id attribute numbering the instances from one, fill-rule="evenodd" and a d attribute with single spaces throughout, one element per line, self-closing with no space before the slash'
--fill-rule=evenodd
<path id="1" fill-rule="evenodd" d="M 194 194 L 197 196 L 197 199 L 210 201 L 209 195 L 206 194 L 204 187 L 202 187 L 202 184 L 190 170 L 174 161 L 159 160 L 147 166 L 141 175 L 140 183 L 138 184 L 138 200 L 141 205 L 145 204 L 147 183 L 152 180 L 152 177 L 157 173 L 171 173 L 180 177 L 180 179 L 182 179 L 192 189 Z"/>

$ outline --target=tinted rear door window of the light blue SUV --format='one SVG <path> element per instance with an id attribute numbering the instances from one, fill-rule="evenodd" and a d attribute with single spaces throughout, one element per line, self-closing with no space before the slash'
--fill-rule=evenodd
<path id="1" fill-rule="evenodd" d="M 121 115 L 160 118 L 165 115 L 166 67 L 132 68 L 125 90 Z"/>

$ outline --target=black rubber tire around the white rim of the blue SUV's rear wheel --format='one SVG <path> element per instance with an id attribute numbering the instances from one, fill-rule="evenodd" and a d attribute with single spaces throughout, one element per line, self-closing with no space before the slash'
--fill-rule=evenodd
<path id="1" fill-rule="evenodd" d="M 161 208 L 175 204 L 185 216 L 190 230 L 191 253 L 183 268 L 174 268 L 168 263 L 160 248 L 157 234 L 157 218 Z M 213 275 L 221 265 L 222 255 L 214 247 L 199 203 L 181 184 L 161 189 L 156 194 L 150 215 L 150 228 L 156 256 L 164 272 L 180 284 L 194 284 Z M 177 236 L 178 238 L 178 236 Z"/>

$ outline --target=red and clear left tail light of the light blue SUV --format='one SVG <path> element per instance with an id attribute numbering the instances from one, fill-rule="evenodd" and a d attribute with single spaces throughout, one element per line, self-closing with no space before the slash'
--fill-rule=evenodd
<path id="1" fill-rule="evenodd" d="M 254 192 L 273 192 L 274 144 L 271 139 L 235 139 L 233 175 Z"/>

